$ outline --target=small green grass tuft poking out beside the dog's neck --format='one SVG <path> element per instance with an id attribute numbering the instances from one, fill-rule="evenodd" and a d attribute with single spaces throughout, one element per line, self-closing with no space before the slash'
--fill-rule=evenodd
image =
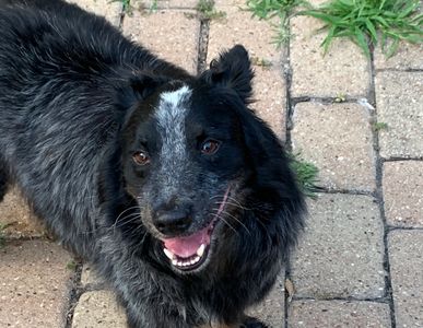
<path id="1" fill-rule="evenodd" d="M 290 157 L 291 169 L 295 173 L 296 179 L 304 195 L 310 198 L 316 198 L 316 191 L 318 189 L 316 186 L 318 183 L 317 175 L 319 169 L 314 164 L 301 159 L 299 153 L 291 153 Z"/>

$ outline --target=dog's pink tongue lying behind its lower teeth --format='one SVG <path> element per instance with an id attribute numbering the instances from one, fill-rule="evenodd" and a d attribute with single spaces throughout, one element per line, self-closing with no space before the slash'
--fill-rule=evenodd
<path id="1" fill-rule="evenodd" d="M 164 239 L 163 242 L 165 247 L 173 254 L 177 255 L 178 257 L 187 258 L 195 255 L 201 244 L 209 245 L 210 236 L 208 234 L 208 229 L 203 229 L 195 235 L 168 238 Z"/>

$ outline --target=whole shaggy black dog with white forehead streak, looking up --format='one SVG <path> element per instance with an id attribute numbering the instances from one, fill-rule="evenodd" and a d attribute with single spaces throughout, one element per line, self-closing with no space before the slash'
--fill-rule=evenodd
<path id="1" fill-rule="evenodd" d="M 130 327 L 263 327 L 302 230 L 235 46 L 192 77 L 59 0 L 0 0 L 0 191 L 17 184 L 115 288 Z M 2 197 L 2 195 L 0 195 Z"/>

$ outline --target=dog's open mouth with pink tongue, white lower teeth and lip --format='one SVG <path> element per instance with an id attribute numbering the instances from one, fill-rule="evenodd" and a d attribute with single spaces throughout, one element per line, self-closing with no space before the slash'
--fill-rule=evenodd
<path id="1" fill-rule="evenodd" d="M 208 226 L 189 236 L 162 239 L 163 251 L 171 260 L 172 266 L 183 271 L 192 271 L 205 262 L 210 254 L 212 234 L 226 204 L 228 194 L 230 187 Z"/>

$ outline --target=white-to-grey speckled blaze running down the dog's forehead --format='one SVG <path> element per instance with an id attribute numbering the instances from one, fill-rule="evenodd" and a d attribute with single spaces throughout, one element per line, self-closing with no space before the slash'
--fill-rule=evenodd
<path id="1" fill-rule="evenodd" d="M 164 92 L 160 96 L 157 109 L 154 114 L 157 130 L 162 139 L 161 165 L 165 185 L 172 188 L 175 183 L 172 177 L 178 176 L 187 161 L 187 138 L 185 134 L 185 119 L 191 90 L 183 87 Z M 175 186 L 174 186 L 175 187 Z"/>

